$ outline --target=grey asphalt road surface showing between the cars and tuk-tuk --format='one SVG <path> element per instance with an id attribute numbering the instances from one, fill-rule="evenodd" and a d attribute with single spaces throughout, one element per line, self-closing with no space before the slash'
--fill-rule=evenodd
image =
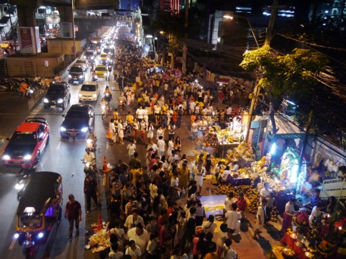
<path id="1" fill-rule="evenodd" d="M 63 78 L 65 79 L 65 78 Z M 87 72 L 86 81 L 90 80 L 90 73 Z M 97 102 L 90 102 L 95 107 L 95 131 L 100 139 L 98 141 L 99 152 L 96 152 L 97 166 L 102 167 L 103 156 L 106 155 L 109 162 L 114 163 L 116 147 L 108 145 L 105 134 L 108 128 L 109 118 L 102 121 L 100 116 L 100 106 L 98 103 L 103 97 L 103 91 L 106 84 L 110 87 L 114 86 L 112 81 L 99 82 L 100 95 Z M 53 171 L 58 172 L 63 178 L 63 198 L 65 204 L 68 201 L 68 195 L 73 193 L 82 205 L 82 222 L 80 224 L 79 236 L 73 236 L 70 241 L 68 236 L 68 221 L 62 219 L 60 226 L 56 231 L 51 232 L 50 239 L 44 246 L 37 247 L 34 258 L 94 258 L 96 255 L 91 251 L 85 251 L 84 245 L 87 242 L 88 235 L 91 231 L 88 227 L 91 222 L 97 222 L 98 212 L 102 214 L 102 219 L 107 221 L 107 206 L 105 203 L 105 193 L 102 187 L 100 204 L 102 206 L 92 209 L 91 213 L 85 216 L 85 202 L 83 193 L 84 173 L 83 164 L 80 159 L 85 151 L 85 140 L 81 138 L 61 138 L 59 133 L 60 124 L 63 120 L 62 115 L 66 114 L 70 105 L 78 103 L 78 92 L 81 85 L 72 85 L 71 102 L 63 111 L 61 108 L 52 108 L 45 110 L 43 102 L 39 103 L 30 113 L 28 111 L 27 101 L 17 97 L 16 93 L 0 93 L 0 137 L 10 137 L 17 126 L 27 117 L 44 117 L 50 126 L 50 143 L 43 151 L 41 160 L 37 164 L 36 171 Z M 114 90 L 114 88 L 112 89 Z M 113 92 L 113 99 L 116 100 L 119 91 Z M 114 98 L 115 97 L 115 98 Z M 114 108 L 115 103 L 112 104 Z M 110 117 L 110 116 L 108 116 Z M 0 151 L 3 152 L 7 140 L 0 145 Z M 126 150 L 126 148 L 123 148 Z M 126 152 L 116 152 L 124 155 Z M 17 191 L 15 184 L 17 183 L 17 173 L 19 168 L 5 167 L 0 165 L 0 218 L 2 225 L 2 234 L 0 235 L 0 257 L 1 258 L 23 258 L 23 247 L 19 246 L 18 241 L 14 239 L 16 233 L 16 211 L 18 206 Z M 100 179 L 102 184 L 102 179 Z M 42 186 L 44 187 L 44 186 Z M 40 191 L 39 189 L 37 190 Z M 93 204 L 93 203 L 92 203 Z M 86 231 L 84 231 L 86 230 Z M 98 255 L 97 255 L 98 256 Z"/>

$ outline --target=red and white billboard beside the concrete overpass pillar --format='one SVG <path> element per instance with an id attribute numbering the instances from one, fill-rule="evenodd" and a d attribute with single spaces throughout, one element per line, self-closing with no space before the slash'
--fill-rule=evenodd
<path id="1" fill-rule="evenodd" d="M 18 27 L 20 52 L 37 54 L 41 52 L 39 27 Z"/>

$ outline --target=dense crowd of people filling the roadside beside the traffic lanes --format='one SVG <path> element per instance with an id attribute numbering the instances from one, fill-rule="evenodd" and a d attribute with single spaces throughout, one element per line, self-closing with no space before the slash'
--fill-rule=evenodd
<path id="1" fill-rule="evenodd" d="M 231 231 L 223 226 L 227 234 L 219 234 L 214 242 L 217 224 L 213 215 L 206 218 L 199 199 L 203 177 L 214 170 L 210 155 L 202 153 L 196 161 L 188 161 L 177 135 L 185 115 L 191 116 L 191 131 L 197 129 L 195 137 L 203 134 L 211 122 L 221 119 L 221 111 L 219 117 L 215 116 L 212 106 L 219 93 L 201 89 L 192 77 L 183 79 L 172 72 L 155 71 L 153 61 L 143 58 L 134 44 L 116 48 L 114 79 L 123 93 L 120 96 L 127 105 L 138 104 L 138 108 L 135 114 L 128 113 L 126 121 L 115 109 L 110 121 L 112 143 L 123 144 L 126 134 L 132 138 L 124 146 L 129 161 L 119 160 L 110 172 L 111 220 L 107 231 L 111 246 L 108 254 L 100 256 L 235 258 Z M 128 84 L 131 78 L 134 81 Z M 196 105 L 195 100 L 204 103 L 205 108 Z M 146 154 L 139 153 L 137 141 L 147 145 Z M 89 195 L 88 209 L 92 197 Z M 234 206 L 229 208 L 233 210 Z M 230 218 L 232 223 L 226 225 L 233 227 L 238 219 Z"/>

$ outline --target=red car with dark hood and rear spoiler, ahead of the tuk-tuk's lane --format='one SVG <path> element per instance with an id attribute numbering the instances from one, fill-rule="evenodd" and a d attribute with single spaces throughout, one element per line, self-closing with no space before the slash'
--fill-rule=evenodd
<path id="1" fill-rule="evenodd" d="M 2 161 L 6 166 L 32 168 L 49 143 L 49 126 L 45 118 L 28 118 L 18 126 L 9 140 Z"/>

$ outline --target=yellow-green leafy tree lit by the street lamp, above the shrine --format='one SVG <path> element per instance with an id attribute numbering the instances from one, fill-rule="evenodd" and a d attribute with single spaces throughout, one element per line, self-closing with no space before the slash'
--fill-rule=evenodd
<path id="1" fill-rule="evenodd" d="M 305 49 L 294 49 L 286 56 L 275 56 L 269 46 L 248 51 L 240 66 L 254 71 L 257 84 L 270 101 L 270 119 L 276 134 L 275 112 L 287 96 L 304 97 L 309 87 L 317 83 L 316 76 L 325 71 L 328 59 Z M 307 100 L 308 101 L 308 100 Z"/>

